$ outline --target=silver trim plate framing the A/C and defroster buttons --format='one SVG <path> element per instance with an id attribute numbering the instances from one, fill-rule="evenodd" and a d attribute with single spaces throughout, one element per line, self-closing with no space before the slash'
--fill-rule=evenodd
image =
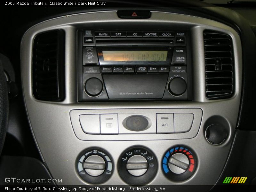
<path id="1" fill-rule="evenodd" d="M 122 130 L 127 130 L 123 127 L 122 122 L 123 120 L 131 115 L 143 115 L 144 112 L 147 111 L 146 114 L 151 121 L 153 122 L 148 130 L 137 132 L 135 134 L 133 131 L 127 131 L 127 134 L 122 134 Z M 95 135 L 95 134 L 86 134 L 83 132 L 81 124 L 79 122 L 79 116 L 84 114 L 118 114 L 118 135 Z M 194 114 L 194 120 L 191 129 L 188 132 L 184 133 L 168 133 L 168 134 L 156 134 L 156 113 L 192 113 Z M 146 115 L 147 116 L 147 115 Z M 196 136 L 198 129 L 201 124 L 202 119 L 202 110 L 197 108 L 183 108 L 183 109 L 175 109 L 175 108 L 155 108 L 155 109 L 95 109 L 95 110 L 71 110 L 70 111 L 70 119 L 72 122 L 72 126 L 76 137 L 81 140 L 168 140 L 168 139 L 189 139 Z M 183 119 L 184 121 L 186 119 Z M 153 133 L 154 132 L 154 133 Z M 130 133 L 130 134 L 129 134 Z M 148 134 L 147 134 L 148 133 Z"/>

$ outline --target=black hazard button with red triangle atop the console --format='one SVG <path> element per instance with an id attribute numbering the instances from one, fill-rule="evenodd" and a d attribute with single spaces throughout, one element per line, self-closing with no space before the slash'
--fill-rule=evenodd
<path id="1" fill-rule="evenodd" d="M 122 19 L 146 19 L 150 18 L 151 12 L 147 10 L 119 10 L 117 15 Z"/>

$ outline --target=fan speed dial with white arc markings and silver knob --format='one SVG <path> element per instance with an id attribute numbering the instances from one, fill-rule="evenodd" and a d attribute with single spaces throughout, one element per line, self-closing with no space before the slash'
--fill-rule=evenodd
<path id="1" fill-rule="evenodd" d="M 103 183 L 112 175 L 112 162 L 110 155 L 103 149 L 89 148 L 78 156 L 77 172 L 88 183 Z"/>

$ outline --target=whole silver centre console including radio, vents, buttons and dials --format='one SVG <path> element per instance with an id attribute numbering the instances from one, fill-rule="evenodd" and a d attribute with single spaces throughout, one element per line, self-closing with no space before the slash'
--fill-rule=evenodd
<path id="1" fill-rule="evenodd" d="M 239 111 L 240 37 L 217 21 L 148 13 L 69 15 L 23 36 L 28 119 L 58 185 L 218 180 Z"/>

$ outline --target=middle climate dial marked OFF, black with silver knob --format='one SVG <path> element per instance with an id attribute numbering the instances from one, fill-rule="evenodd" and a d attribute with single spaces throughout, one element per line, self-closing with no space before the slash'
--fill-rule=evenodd
<path id="1" fill-rule="evenodd" d="M 120 177 L 130 185 L 145 185 L 156 176 L 156 156 L 145 147 L 129 148 L 118 160 L 118 172 Z"/>

